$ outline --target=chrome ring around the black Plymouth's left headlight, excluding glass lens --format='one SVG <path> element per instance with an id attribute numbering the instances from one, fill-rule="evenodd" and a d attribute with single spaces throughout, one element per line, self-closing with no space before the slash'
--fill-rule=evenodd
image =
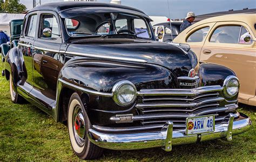
<path id="1" fill-rule="evenodd" d="M 133 90 L 134 90 L 134 96 L 132 98 L 132 100 L 130 102 L 127 102 L 127 103 L 123 103 L 121 102 L 119 99 L 118 99 L 118 92 L 120 90 L 120 87 L 124 86 L 124 85 L 130 85 Z M 137 98 L 137 89 L 136 89 L 136 86 L 134 84 L 132 84 L 129 80 L 123 80 L 123 81 L 120 81 L 118 83 L 116 83 L 114 86 L 113 86 L 113 89 L 112 89 L 112 95 L 113 95 L 113 100 L 114 102 L 119 105 L 119 106 L 129 106 L 131 105 L 134 100 L 136 100 Z"/>

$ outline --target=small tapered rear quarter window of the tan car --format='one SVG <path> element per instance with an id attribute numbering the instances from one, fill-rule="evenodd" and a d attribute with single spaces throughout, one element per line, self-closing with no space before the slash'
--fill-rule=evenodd
<path id="1" fill-rule="evenodd" d="M 193 32 L 190 36 L 188 36 L 186 42 L 203 42 L 204 38 L 207 36 L 209 29 L 210 27 L 207 26 Z"/>

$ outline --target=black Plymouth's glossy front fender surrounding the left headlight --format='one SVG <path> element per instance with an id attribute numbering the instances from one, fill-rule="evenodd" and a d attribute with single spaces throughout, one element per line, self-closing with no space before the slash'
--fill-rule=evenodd
<path id="1" fill-rule="evenodd" d="M 87 90 L 110 94 L 113 86 L 122 80 L 132 82 L 137 91 L 179 88 L 176 76 L 162 66 L 93 59 L 80 59 L 66 63 L 60 71 L 59 79 Z M 136 102 L 129 106 L 118 106 L 112 97 L 93 94 L 86 94 L 86 96 L 89 100 L 86 103 L 88 116 L 92 124 L 111 124 L 109 119 L 116 113 L 136 113 L 133 109 Z"/>

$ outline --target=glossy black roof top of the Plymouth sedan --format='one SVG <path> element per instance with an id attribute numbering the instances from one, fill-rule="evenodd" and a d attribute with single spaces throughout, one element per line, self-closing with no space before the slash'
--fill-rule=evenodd
<path id="1" fill-rule="evenodd" d="M 98 2 L 57 2 L 57 3 L 46 3 L 37 6 L 29 10 L 29 12 L 38 11 L 38 10 L 50 10 L 59 13 L 60 11 L 75 9 L 75 8 L 86 8 L 86 7 L 111 7 L 111 8 L 120 8 L 120 9 L 129 9 L 141 12 L 145 14 L 143 11 L 131 8 L 125 5 L 111 4 L 111 3 L 98 3 Z M 28 13 L 29 13 L 28 12 Z"/>

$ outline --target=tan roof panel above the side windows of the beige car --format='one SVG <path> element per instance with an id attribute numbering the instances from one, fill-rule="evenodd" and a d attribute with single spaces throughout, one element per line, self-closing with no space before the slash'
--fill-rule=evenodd
<path id="1" fill-rule="evenodd" d="M 256 14 L 230 14 L 224 16 L 216 16 L 204 19 L 196 25 L 205 24 L 205 23 L 212 23 L 212 22 L 244 22 L 248 26 L 250 26 L 251 30 L 254 32 L 254 36 L 256 37 Z M 193 25 L 192 25 L 193 26 Z"/>

